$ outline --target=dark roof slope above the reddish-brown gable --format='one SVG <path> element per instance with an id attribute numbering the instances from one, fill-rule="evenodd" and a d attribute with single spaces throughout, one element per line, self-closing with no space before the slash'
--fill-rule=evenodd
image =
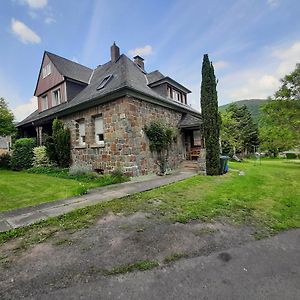
<path id="1" fill-rule="evenodd" d="M 45 51 L 51 62 L 61 75 L 80 82 L 88 83 L 93 70 L 72 60 Z"/>

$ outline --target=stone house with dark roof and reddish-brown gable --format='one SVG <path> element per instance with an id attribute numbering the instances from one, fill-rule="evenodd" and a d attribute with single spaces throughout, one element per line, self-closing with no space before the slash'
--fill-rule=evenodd
<path id="1" fill-rule="evenodd" d="M 144 60 L 121 54 L 115 43 L 111 60 L 95 69 L 45 52 L 34 95 L 38 109 L 18 123 L 23 136 L 51 134 L 54 118 L 71 131 L 73 164 L 88 164 L 130 175 L 157 171 L 143 128 L 163 119 L 177 129 L 169 167 L 196 160 L 203 148 L 200 112 L 187 104 L 190 90 L 159 71 L 146 72 Z"/>

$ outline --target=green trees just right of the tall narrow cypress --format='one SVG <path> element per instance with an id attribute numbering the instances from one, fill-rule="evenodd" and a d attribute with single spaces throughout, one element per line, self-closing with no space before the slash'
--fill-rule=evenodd
<path id="1" fill-rule="evenodd" d="M 238 107 L 235 103 L 230 104 L 225 112 L 221 113 L 222 148 L 227 154 L 242 155 L 255 152 L 259 145 L 258 127 L 253 122 L 251 113 L 246 105 Z"/>

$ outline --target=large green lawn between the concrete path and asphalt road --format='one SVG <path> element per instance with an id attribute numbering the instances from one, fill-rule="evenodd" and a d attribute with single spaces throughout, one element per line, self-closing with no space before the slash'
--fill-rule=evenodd
<path id="1" fill-rule="evenodd" d="M 225 217 L 231 222 L 257 226 L 267 234 L 300 227 L 299 161 L 230 162 L 230 168 L 225 176 L 195 176 L 0 233 L 0 243 L 20 236 L 23 243 L 40 242 L 56 231 L 76 231 L 91 226 L 108 212 L 143 211 L 172 222 L 205 222 Z M 238 170 L 243 170 L 245 175 L 240 176 Z M 261 236 L 258 231 L 258 237 Z"/>

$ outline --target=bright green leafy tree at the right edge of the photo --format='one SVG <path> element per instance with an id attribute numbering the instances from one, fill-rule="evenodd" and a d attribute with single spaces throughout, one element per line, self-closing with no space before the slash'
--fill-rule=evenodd
<path id="1" fill-rule="evenodd" d="M 300 64 L 286 75 L 270 102 L 262 107 L 260 139 L 274 156 L 300 145 Z"/>

